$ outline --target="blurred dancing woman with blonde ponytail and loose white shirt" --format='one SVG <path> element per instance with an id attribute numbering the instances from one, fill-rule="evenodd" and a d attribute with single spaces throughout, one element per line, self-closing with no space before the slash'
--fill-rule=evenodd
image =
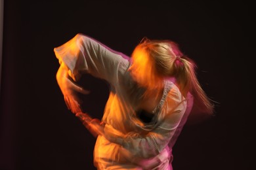
<path id="1" fill-rule="evenodd" d="M 77 34 L 54 48 L 56 80 L 66 105 L 97 137 L 97 169 L 172 169 L 172 148 L 188 114 L 213 114 L 196 78 L 196 65 L 173 41 L 140 42 L 131 58 Z M 75 81 L 84 73 L 110 84 L 102 120 L 82 112 Z"/>

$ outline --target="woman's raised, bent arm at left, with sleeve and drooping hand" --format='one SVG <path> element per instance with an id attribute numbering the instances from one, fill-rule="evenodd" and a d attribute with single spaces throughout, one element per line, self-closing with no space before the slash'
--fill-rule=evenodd
<path id="1" fill-rule="evenodd" d="M 73 113 L 82 111 L 76 92 L 88 93 L 75 84 L 83 73 L 115 84 L 119 71 L 127 69 L 129 65 L 129 57 L 83 34 L 77 34 L 70 41 L 54 48 L 54 53 L 60 63 L 56 73 L 58 86 L 68 109 Z"/>

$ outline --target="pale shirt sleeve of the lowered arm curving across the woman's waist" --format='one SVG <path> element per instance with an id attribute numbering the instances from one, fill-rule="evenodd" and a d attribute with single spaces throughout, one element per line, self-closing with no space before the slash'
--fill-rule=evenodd
<path id="1" fill-rule="evenodd" d="M 181 93 L 177 92 L 177 90 L 171 90 L 168 93 L 167 101 L 162 108 L 165 115 L 155 129 L 146 135 L 130 132 L 122 137 L 116 137 L 114 142 L 140 158 L 151 158 L 158 155 L 175 134 L 186 110 L 186 99 L 183 99 Z"/>

